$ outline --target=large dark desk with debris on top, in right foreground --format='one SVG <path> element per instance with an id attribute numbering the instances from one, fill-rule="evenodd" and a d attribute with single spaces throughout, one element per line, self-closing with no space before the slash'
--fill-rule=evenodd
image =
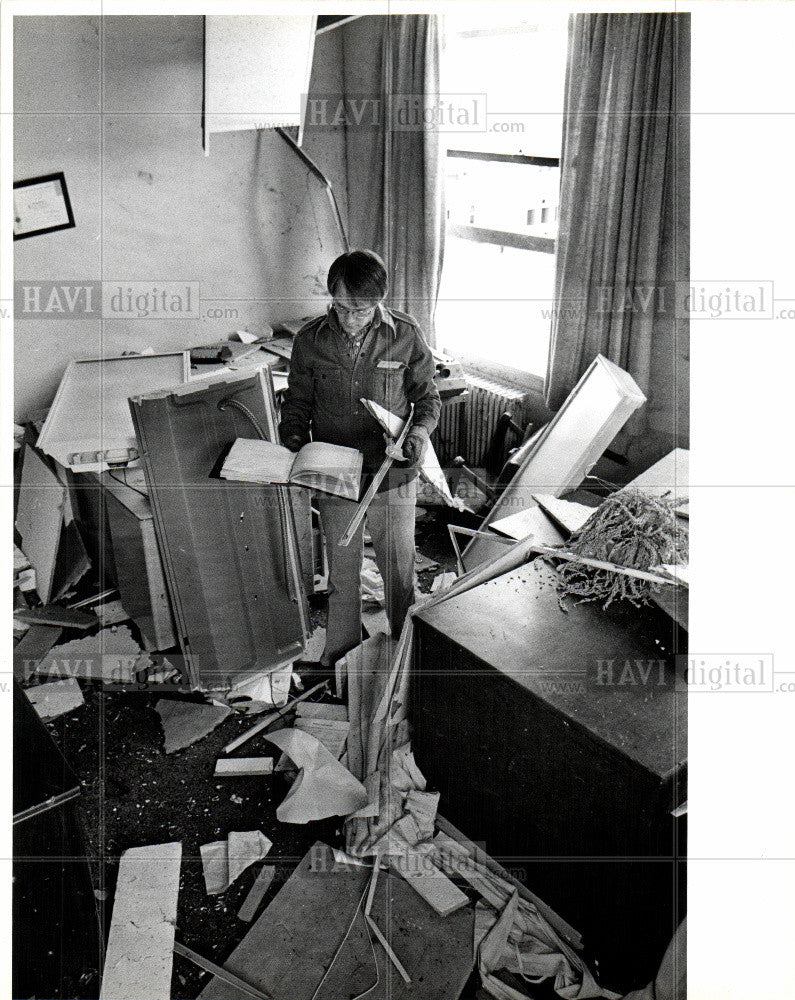
<path id="1" fill-rule="evenodd" d="M 523 869 L 624 992 L 680 917 L 684 636 L 656 608 L 564 612 L 555 583 L 536 562 L 419 612 L 414 752 L 445 815 Z"/>

